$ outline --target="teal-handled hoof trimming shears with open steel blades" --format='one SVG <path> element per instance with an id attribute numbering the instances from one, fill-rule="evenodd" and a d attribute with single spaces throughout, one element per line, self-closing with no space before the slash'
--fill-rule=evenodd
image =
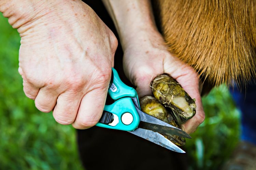
<path id="1" fill-rule="evenodd" d="M 124 84 L 114 68 L 112 68 L 108 94 L 115 102 L 105 105 L 102 117 L 96 126 L 125 130 L 169 150 L 185 153 L 160 133 L 191 137 L 183 130 L 142 112 L 136 90 Z"/>

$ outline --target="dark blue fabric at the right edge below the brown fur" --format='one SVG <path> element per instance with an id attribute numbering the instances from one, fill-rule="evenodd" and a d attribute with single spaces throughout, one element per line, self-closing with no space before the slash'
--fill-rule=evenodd
<path id="1" fill-rule="evenodd" d="M 241 139 L 256 145 L 256 84 L 251 83 L 242 91 L 235 87 L 230 92 L 241 110 Z"/>

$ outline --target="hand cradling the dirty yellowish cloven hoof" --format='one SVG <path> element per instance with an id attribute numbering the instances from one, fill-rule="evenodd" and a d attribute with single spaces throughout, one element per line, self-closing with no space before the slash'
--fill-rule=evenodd
<path id="1" fill-rule="evenodd" d="M 196 114 L 183 124 L 190 134 L 204 121 L 204 111 L 199 90 L 199 79 L 192 67 L 172 56 L 157 32 L 146 35 L 137 32 L 136 40 L 130 41 L 124 49 L 124 71 L 129 80 L 137 87 L 139 96 L 153 95 L 150 82 L 157 75 L 168 73 L 176 79 L 183 89 L 196 99 Z"/>

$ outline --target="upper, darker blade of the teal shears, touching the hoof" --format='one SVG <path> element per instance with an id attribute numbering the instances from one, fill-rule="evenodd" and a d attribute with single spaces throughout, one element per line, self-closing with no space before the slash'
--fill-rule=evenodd
<path id="1" fill-rule="evenodd" d="M 164 133 L 164 134 L 168 134 L 168 135 L 177 135 L 177 136 L 191 139 L 191 137 L 183 130 L 169 127 L 169 126 L 162 126 L 162 125 L 157 125 L 154 123 L 140 121 L 139 127 L 143 128 L 143 129 L 147 129 L 147 130 L 152 130 L 152 131 L 158 132 L 158 133 Z"/>

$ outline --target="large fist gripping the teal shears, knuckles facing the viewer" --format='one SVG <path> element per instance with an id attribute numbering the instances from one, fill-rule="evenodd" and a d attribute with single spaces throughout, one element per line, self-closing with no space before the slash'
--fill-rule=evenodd
<path id="1" fill-rule="evenodd" d="M 54 109 L 60 124 L 94 126 L 105 105 L 116 37 L 80 0 L 27 1 L 41 3 L 20 15 L 31 19 L 19 25 L 22 20 L 9 17 L 21 36 L 18 71 L 26 96 L 42 112 Z"/>

